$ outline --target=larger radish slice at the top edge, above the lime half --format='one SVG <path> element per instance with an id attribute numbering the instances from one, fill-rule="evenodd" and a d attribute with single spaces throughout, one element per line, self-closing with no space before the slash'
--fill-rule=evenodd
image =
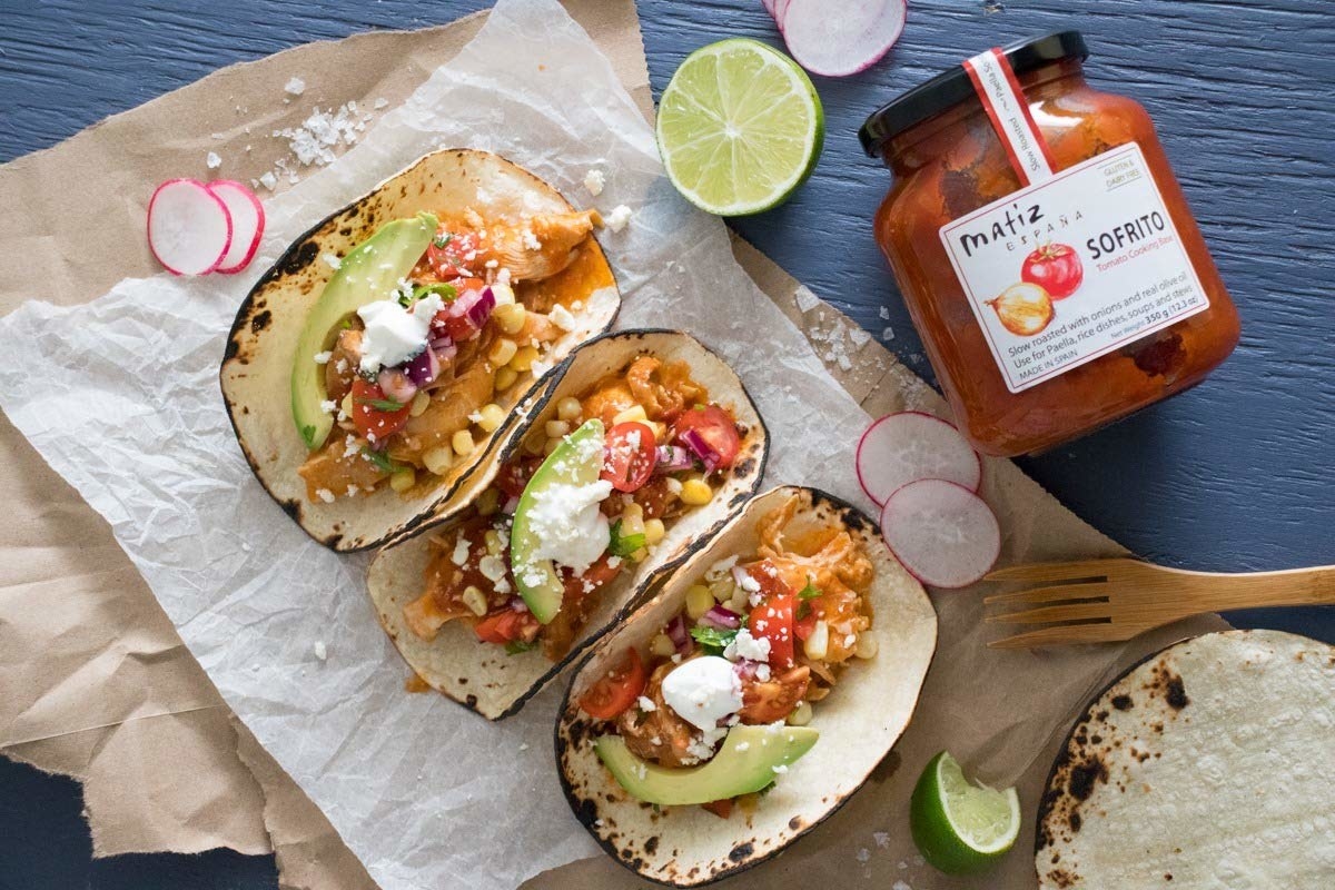
<path id="1" fill-rule="evenodd" d="M 774 0 L 784 43 L 813 75 L 845 77 L 874 65 L 904 31 L 906 0 Z"/>

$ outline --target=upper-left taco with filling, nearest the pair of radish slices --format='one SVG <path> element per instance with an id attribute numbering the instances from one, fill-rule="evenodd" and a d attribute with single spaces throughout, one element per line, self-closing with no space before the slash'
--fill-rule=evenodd
<path id="1" fill-rule="evenodd" d="M 599 221 L 447 149 L 306 232 L 242 303 L 220 371 L 270 495 L 344 551 L 465 506 L 517 408 L 615 316 Z"/>

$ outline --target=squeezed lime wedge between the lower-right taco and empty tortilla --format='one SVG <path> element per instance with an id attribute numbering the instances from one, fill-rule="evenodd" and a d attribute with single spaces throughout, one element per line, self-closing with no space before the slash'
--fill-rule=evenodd
<path id="1" fill-rule="evenodd" d="M 1020 834 L 1020 797 L 971 785 L 947 751 L 932 758 L 913 789 L 913 842 L 947 874 L 979 874 L 1004 857 Z"/>

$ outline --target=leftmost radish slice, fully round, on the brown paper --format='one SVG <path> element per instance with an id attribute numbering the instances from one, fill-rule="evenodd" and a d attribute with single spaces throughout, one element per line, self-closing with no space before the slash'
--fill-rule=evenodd
<path id="1" fill-rule="evenodd" d="M 148 250 L 172 275 L 204 275 L 232 246 L 227 205 L 203 183 L 168 179 L 148 201 Z"/>

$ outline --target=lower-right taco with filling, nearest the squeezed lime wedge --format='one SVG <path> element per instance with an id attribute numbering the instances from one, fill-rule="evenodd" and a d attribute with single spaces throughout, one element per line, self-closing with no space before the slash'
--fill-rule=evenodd
<path id="1" fill-rule="evenodd" d="M 750 867 L 866 781 L 934 648 L 926 592 L 869 519 L 769 491 L 581 663 L 557 721 L 566 798 L 650 881 Z"/>

